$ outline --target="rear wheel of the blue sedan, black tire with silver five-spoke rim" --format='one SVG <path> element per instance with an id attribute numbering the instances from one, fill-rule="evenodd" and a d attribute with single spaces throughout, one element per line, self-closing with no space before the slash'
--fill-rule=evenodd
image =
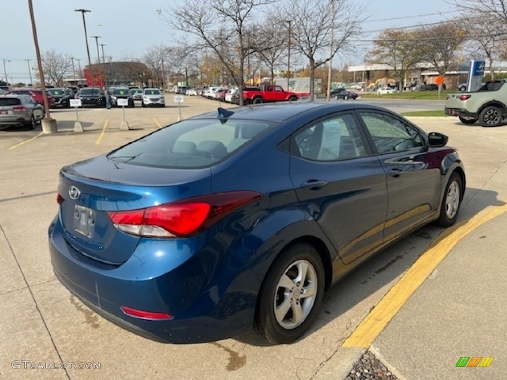
<path id="1" fill-rule="evenodd" d="M 298 281 L 302 275 L 304 279 Z M 317 317 L 324 283 L 324 265 L 314 247 L 297 244 L 284 250 L 262 285 L 256 309 L 257 333 L 271 344 L 299 339 Z"/>

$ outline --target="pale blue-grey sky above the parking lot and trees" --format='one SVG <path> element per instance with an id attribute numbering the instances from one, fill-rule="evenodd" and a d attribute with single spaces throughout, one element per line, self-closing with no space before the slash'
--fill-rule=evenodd
<path id="1" fill-rule="evenodd" d="M 205 2 L 206 0 L 202 0 Z M 81 59 L 84 66 L 86 45 L 83 19 L 75 9 L 88 9 L 86 26 L 88 35 L 100 35 L 99 44 L 104 47 L 105 56 L 119 60 L 124 56 L 142 56 L 151 45 L 164 43 L 174 45 L 177 33 L 159 17 L 157 10 L 182 0 L 32 0 L 35 22 L 41 52 L 55 49 Z M 6 62 L 9 82 L 28 82 L 28 62 L 34 67 L 33 45 L 27 0 L 1 0 L 0 59 Z M 392 26 L 409 26 L 453 18 L 455 13 L 444 0 L 353 0 L 353 4 L 364 5 L 369 21 L 364 29 L 371 31 L 365 38 L 374 37 L 379 30 Z M 441 13 L 441 14 L 438 14 Z M 431 14 L 431 15 L 429 15 Z M 421 17 L 413 17 L 420 16 Z M 402 18 L 392 20 L 393 18 Z M 391 19 L 391 20 L 385 20 Z M 383 20 L 383 21 L 373 21 Z M 97 58 L 95 39 L 89 39 L 92 62 Z M 357 57 L 352 63 L 362 63 L 362 56 L 368 45 L 358 46 Z M 100 49 L 100 56 L 102 51 Z M 306 62 L 301 62 L 305 64 Z M 5 77 L 3 62 L 0 62 L 0 78 Z M 339 65 L 336 62 L 335 65 Z M 77 69 L 77 67 L 76 67 Z"/>

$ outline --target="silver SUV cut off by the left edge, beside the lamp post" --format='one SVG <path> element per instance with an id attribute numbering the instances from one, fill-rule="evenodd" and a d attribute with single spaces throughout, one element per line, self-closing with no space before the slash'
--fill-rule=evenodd
<path id="1" fill-rule="evenodd" d="M 0 95 L 0 128 L 25 125 L 34 129 L 44 117 L 44 107 L 29 95 Z"/>

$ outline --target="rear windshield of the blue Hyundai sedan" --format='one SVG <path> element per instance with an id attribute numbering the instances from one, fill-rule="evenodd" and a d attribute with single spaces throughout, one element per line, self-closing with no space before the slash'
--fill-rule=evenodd
<path id="1" fill-rule="evenodd" d="M 218 119 L 186 120 L 161 129 L 116 151 L 110 160 L 164 168 L 198 168 L 214 164 L 274 123 Z"/>

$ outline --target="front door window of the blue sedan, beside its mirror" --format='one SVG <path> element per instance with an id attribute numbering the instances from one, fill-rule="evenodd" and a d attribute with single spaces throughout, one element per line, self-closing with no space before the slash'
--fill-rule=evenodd
<path id="1" fill-rule="evenodd" d="M 379 112 L 359 112 L 380 154 L 424 146 L 419 131 L 403 121 Z"/>

